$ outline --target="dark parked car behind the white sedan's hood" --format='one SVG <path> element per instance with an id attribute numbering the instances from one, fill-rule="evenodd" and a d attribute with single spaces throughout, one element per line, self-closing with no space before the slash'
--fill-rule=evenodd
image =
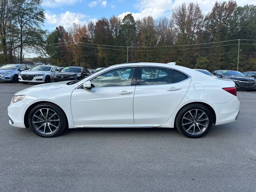
<path id="1" fill-rule="evenodd" d="M 65 67 L 52 76 L 53 82 L 80 80 L 88 76 L 90 72 L 84 67 Z"/>

